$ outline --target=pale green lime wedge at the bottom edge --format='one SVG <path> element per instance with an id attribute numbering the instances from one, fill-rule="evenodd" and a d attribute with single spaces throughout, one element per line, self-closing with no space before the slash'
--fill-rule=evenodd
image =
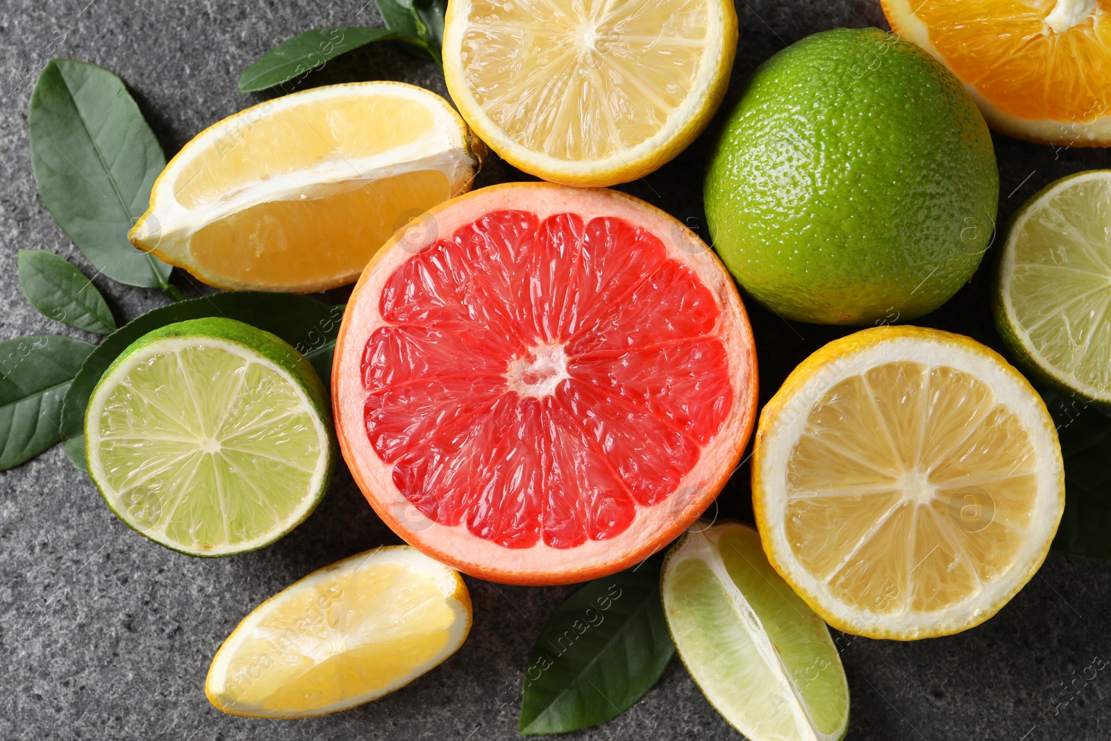
<path id="1" fill-rule="evenodd" d="M 752 741 L 841 739 L 849 685 L 829 629 L 768 563 L 760 535 L 727 522 L 672 547 L 663 611 L 707 699 Z"/>

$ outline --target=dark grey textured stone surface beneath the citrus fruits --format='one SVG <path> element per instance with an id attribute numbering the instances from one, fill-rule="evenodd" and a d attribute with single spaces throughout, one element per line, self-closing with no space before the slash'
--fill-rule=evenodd
<path id="1" fill-rule="evenodd" d="M 741 40 L 732 90 L 762 60 L 838 26 L 885 28 L 878 0 L 739 0 Z M 88 263 L 36 194 L 27 104 L 49 57 L 96 62 L 120 74 L 167 154 L 193 134 L 261 100 L 236 92 L 239 72 L 266 49 L 321 26 L 381 24 L 367 0 L 0 0 L 0 339 L 62 332 L 23 299 L 16 251 L 53 250 Z M 307 86 L 360 79 L 417 82 L 443 93 L 429 64 L 396 49 L 357 51 Z M 1000 219 L 1051 180 L 1111 167 L 1103 151 L 1062 150 L 995 137 Z M 691 223 L 704 223 L 703 137 L 662 171 L 624 188 Z M 497 160 L 480 184 L 521 178 Z M 988 261 L 992 259 L 991 253 Z M 987 261 L 985 261 L 987 263 Z M 999 348 L 981 269 L 970 287 L 920 323 Z M 198 289 L 182 276 L 187 292 Z M 117 317 L 166 299 L 103 279 Z M 343 292 L 327 297 L 341 301 Z M 764 400 L 810 351 L 844 333 L 788 326 L 749 302 Z M 93 339 L 93 338 L 86 338 Z M 750 517 L 748 471 L 719 513 Z M 1111 537 L 1111 533 L 1109 533 Z M 474 628 L 446 664 L 377 702 L 320 719 L 231 718 L 204 698 L 212 654 L 263 599 L 340 558 L 396 542 L 346 470 L 317 512 L 276 545 L 197 560 L 128 530 L 60 448 L 0 473 L 0 738 L 2 739 L 459 739 L 517 735 L 521 672 L 552 610 L 573 588 L 524 589 L 468 580 Z M 852 691 L 850 739 L 1108 739 L 1111 563 L 1051 553 L 994 619 L 965 633 L 897 643 L 841 638 Z M 1090 673 L 1090 672 L 1089 672 Z M 1064 685 L 1071 683 L 1072 692 Z M 1065 701 L 1069 701 L 1065 703 Z M 570 734 L 583 739 L 740 738 L 699 693 L 678 660 L 629 712 Z"/>

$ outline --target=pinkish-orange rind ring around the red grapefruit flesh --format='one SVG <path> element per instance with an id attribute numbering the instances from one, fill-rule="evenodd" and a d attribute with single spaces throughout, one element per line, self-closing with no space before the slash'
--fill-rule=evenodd
<path id="1" fill-rule="evenodd" d="M 574 548 L 538 542 L 508 549 L 447 527 L 421 513 L 393 484 L 367 435 L 360 363 L 371 333 L 383 326 L 379 297 L 386 281 L 413 254 L 479 217 L 498 210 L 522 210 L 541 220 L 575 213 L 583 220 L 618 217 L 644 227 L 668 247 L 668 257 L 689 267 L 715 297 L 721 309 L 718 337 L 725 344 L 734 389 L 733 407 L 717 437 L 703 448 L 695 467 L 661 503 L 638 508 L 619 535 L 589 540 Z M 602 189 L 550 183 L 503 183 L 447 201 L 413 227 L 399 231 L 367 266 L 337 338 L 332 403 L 340 449 L 371 507 L 406 542 L 460 571 L 512 584 L 577 583 L 620 571 L 648 558 L 683 532 L 709 507 L 735 469 L 755 419 L 757 360 L 748 316 L 724 267 L 710 249 L 673 217 L 643 201 Z"/>

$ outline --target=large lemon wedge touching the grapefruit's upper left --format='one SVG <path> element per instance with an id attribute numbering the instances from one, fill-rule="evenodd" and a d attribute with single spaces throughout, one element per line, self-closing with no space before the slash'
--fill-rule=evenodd
<path id="1" fill-rule="evenodd" d="M 321 291 L 352 282 L 398 228 L 469 190 L 481 151 L 422 88 L 314 88 L 197 134 L 129 237 L 218 288 Z"/>

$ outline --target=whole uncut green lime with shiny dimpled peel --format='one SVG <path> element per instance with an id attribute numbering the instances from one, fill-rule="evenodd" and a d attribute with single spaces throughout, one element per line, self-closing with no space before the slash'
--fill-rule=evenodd
<path id="1" fill-rule="evenodd" d="M 752 76 L 713 152 L 714 249 L 757 300 L 823 324 L 913 319 L 964 284 L 999 172 L 960 81 L 878 29 L 815 33 Z"/>

